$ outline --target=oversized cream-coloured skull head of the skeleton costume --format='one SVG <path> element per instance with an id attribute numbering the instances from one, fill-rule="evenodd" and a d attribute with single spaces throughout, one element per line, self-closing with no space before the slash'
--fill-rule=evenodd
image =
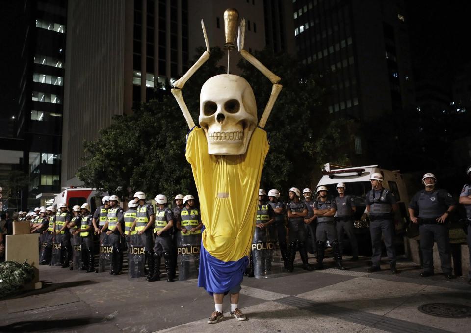
<path id="1" fill-rule="evenodd" d="M 201 88 L 198 120 L 206 133 L 209 154 L 245 154 L 257 126 L 252 87 L 233 74 L 211 77 Z"/>

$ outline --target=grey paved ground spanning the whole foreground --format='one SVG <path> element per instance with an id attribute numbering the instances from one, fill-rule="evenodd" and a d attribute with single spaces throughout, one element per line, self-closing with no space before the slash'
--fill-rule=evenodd
<path id="1" fill-rule="evenodd" d="M 196 281 L 130 282 L 127 275 L 41 266 L 44 288 L 0 301 L 0 332 L 469 332 L 471 317 L 422 313 L 429 303 L 471 307 L 464 278 L 420 278 L 404 261 L 401 274 L 366 273 L 368 258 L 348 271 L 328 268 L 275 279 L 244 278 L 240 307 L 249 317 L 206 323 L 211 297 Z M 310 259 L 312 261 L 312 259 Z M 330 267 L 327 260 L 327 267 Z M 386 269 L 386 265 L 383 266 Z"/>

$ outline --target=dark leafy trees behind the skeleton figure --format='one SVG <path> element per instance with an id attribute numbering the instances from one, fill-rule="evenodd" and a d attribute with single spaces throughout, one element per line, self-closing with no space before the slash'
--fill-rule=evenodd
<path id="1" fill-rule="evenodd" d="M 203 48 L 197 50 L 198 54 Z M 288 55 L 270 51 L 254 54 L 267 68 L 282 78 L 283 90 L 268 119 L 266 130 L 270 151 L 262 175 L 262 186 L 287 191 L 291 186 L 311 185 L 315 171 L 327 161 L 347 161 L 348 122 L 331 122 L 323 99 L 322 76 Z M 184 101 L 197 122 L 199 94 L 203 83 L 225 73 L 218 66 L 225 53 L 211 49 L 209 60 L 182 89 Z M 195 59 L 196 60 L 196 59 Z M 251 64 L 240 61 L 242 77 L 251 84 L 259 118 L 270 97 L 272 84 Z M 194 193 L 191 169 L 184 156 L 188 131 L 180 108 L 167 90 L 159 99 L 143 103 L 131 115 L 116 116 L 100 131 L 100 138 L 85 142 L 86 165 L 77 176 L 85 185 L 113 192 L 121 197 L 142 190 L 173 196 Z M 345 137 L 347 140 L 345 140 Z M 314 173 L 313 173 L 314 171 Z"/>

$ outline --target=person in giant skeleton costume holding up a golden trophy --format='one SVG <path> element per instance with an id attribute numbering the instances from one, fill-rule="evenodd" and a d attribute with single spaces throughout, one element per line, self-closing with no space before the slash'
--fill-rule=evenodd
<path id="1" fill-rule="evenodd" d="M 235 48 L 238 13 L 235 9 L 228 9 L 224 18 L 226 47 L 230 50 Z M 273 83 L 262 118 L 257 126 L 257 104 L 249 83 L 242 77 L 222 74 L 209 78 L 201 88 L 200 127 L 195 126 L 181 89 L 209 58 L 208 37 L 203 23 L 202 27 L 207 51 L 174 83 L 172 94 L 190 128 L 185 155 L 193 171 L 205 227 L 198 286 L 213 295 L 215 311 L 208 323 L 214 324 L 223 317 L 222 303 L 227 293 L 231 298 L 231 315 L 237 320 L 247 319 L 238 309 L 238 299 L 255 229 L 263 163 L 269 148 L 263 127 L 282 87 L 278 84 L 280 77 L 243 50 L 245 21 L 242 20 L 238 51 Z"/>

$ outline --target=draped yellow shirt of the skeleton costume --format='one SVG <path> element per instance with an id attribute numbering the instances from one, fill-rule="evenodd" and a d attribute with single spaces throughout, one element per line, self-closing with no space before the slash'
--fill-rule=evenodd
<path id="1" fill-rule="evenodd" d="M 188 134 L 186 160 L 193 170 L 206 228 L 203 245 L 219 260 L 236 261 L 250 253 L 268 149 L 266 132 L 258 127 L 247 152 L 237 156 L 209 155 L 205 132 L 199 127 Z"/>

